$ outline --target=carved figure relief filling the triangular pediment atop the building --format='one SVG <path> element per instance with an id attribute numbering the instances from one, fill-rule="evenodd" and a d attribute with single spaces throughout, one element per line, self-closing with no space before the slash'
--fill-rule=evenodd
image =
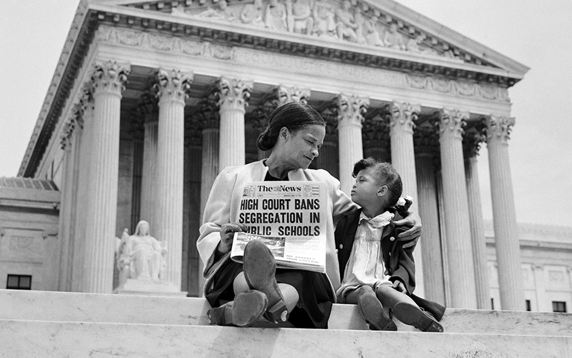
<path id="1" fill-rule="evenodd" d="M 209 0 L 184 5 L 179 2 L 170 9 L 181 17 L 210 19 L 265 27 L 274 31 L 291 32 L 347 41 L 363 45 L 386 47 L 412 53 L 456 57 L 447 48 L 435 47 L 427 34 L 408 27 L 366 3 L 345 0 L 246 0 L 227 2 Z"/>

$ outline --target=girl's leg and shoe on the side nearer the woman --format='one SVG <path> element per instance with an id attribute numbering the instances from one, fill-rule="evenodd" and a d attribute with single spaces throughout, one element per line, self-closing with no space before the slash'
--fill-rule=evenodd
<path id="1" fill-rule="evenodd" d="M 345 295 L 345 302 L 358 305 L 360 316 L 373 331 L 397 331 L 397 326 L 385 315 L 383 306 L 371 287 L 360 286 L 349 291 Z"/>

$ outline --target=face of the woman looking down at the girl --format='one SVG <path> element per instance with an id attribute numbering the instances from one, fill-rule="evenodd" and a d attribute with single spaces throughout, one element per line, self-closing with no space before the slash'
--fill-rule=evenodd
<path id="1" fill-rule="evenodd" d="M 282 137 L 283 146 L 283 162 L 292 169 L 308 169 L 308 166 L 318 156 L 318 152 L 324 143 L 325 126 L 309 125 L 298 130 L 295 133 L 289 132 Z"/>

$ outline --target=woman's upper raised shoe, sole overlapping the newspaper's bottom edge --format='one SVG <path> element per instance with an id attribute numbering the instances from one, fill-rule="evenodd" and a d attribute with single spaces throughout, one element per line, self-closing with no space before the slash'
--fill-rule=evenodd
<path id="1" fill-rule="evenodd" d="M 244 278 L 248 287 L 264 292 L 268 297 L 268 309 L 264 318 L 272 323 L 285 322 L 288 309 L 276 282 L 276 261 L 272 252 L 260 240 L 248 242 L 244 248 Z"/>

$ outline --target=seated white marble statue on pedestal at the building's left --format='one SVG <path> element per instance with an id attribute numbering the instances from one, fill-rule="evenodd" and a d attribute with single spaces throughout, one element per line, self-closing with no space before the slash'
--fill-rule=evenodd
<path id="1" fill-rule="evenodd" d="M 148 222 L 138 222 L 135 233 L 126 239 L 121 249 L 118 265 L 121 265 L 123 279 L 157 281 L 161 278 L 166 249 L 160 241 L 149 235 Z"/>

